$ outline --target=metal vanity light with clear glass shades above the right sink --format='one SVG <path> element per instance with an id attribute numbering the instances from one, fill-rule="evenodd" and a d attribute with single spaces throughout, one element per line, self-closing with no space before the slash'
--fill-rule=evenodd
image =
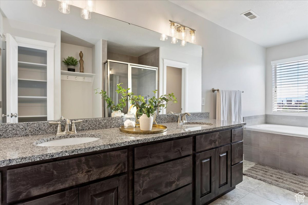
<path id="1" fill-rule="evenodd" d="M 178 39 L 181 41 L 181 46 L 185 46 L 187 42 L 195 43 L 196 42 L 196 30 L 189 28 L 187 26 L 184 26 L 180 23 L 174 22 L 169 20 L 170 24 L 170 36 L 171 43 L 176 44 L 178 42 Z M 189 31 L 189 37 L 187 36 L 187 33 Z M 168 36 L 166 34 L 160 35 L 161 41 L 166 41 L 168 39 Z"/>

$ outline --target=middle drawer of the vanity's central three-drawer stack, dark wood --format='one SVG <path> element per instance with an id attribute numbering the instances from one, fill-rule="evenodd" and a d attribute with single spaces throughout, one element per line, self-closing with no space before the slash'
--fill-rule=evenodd
<path id="1" fill-rule="evenodd" d="M 135 204 L 192 183 L 192 156 L 135 172 Z"/>

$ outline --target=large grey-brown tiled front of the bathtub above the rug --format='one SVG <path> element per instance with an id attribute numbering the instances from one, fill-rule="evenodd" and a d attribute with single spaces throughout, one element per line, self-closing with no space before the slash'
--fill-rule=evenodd
<path id="1" fill-rule="evenodd" d="M 244 159 L 308 175 L 308 137 L 244 129 Z"/>

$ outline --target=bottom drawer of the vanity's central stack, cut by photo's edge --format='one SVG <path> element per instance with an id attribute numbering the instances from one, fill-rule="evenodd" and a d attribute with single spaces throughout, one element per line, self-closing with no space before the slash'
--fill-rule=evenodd
<path id="1" fill-rule="evenodd" d="M 180 188 L 170 194 L 155 199 L 144 205 L 181 205 L 192 203 L 192 185 Z"/>

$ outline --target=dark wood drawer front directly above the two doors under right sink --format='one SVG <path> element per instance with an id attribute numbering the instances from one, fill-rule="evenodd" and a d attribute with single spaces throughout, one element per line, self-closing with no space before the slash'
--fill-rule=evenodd
<path id="1" fill-rule="evenodd" d="M 196 152 L 231 143 L 231 130 L 196 136 Z"/>

